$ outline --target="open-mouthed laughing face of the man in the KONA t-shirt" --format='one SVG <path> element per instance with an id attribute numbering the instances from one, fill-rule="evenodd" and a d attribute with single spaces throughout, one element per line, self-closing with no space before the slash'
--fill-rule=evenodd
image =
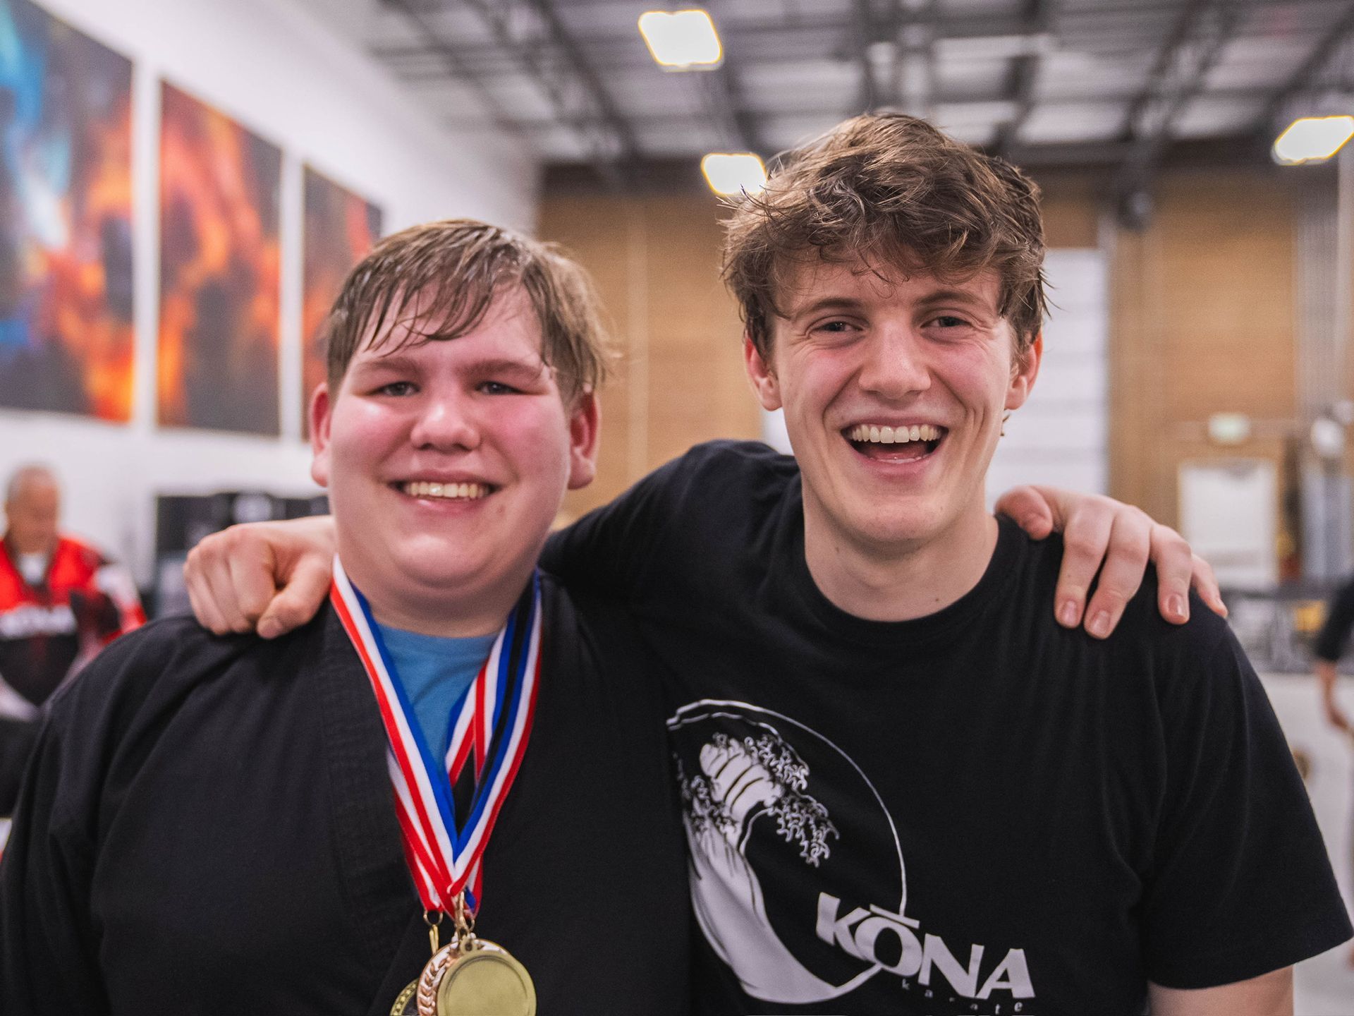
<path id="1" fill-rule="evenodd" d="M 815 543 L 887 561 L 986 523 L 1002 416 L 1040 344 L 1016 356 L 995 272 L 967 282 L 815 260 L 788 280 L 770 363 L 746 344 L 766 409 L 784 408 Z"/>

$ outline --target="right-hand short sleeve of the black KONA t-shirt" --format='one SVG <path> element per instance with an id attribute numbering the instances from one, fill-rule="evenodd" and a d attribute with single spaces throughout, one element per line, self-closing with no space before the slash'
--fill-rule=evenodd
<path id="1" fill-rule="evenodd" d="M 1167 668 L 1159 692 L 1167 780 L 1141 933 L 1147 975 L 1166 988 L 1259 977 L 1351 933 L 1269 698 L 1217 625 L 1212 652 Z"/>

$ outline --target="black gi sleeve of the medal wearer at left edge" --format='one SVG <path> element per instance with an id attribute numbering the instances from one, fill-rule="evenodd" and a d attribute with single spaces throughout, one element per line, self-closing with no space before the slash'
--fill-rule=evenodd
<path id="1" fill-rule="evenodd" d="M 58 713 L 37 737 L 0 858 L 0 1012 L 108 1012 L 97 967 L 91 768 L 72 765 L 72 730 Z M 79 738 L 74 738 L 79 741 Z"/>

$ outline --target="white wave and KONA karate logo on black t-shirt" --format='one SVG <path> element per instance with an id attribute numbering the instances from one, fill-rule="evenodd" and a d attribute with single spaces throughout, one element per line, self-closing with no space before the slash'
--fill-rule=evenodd
<path id="1" fill-rule="evenodd" d="M 894 820 L 837 745 L 741 702 L 684 706 L 668 732 L 696 920 L 743 992 L 803 1005 L 884 977 L 937 1016 L 1025 1013 L 1024 950 L 945 941 L 906 916 Z M 898 902 L 844 902 L 867 893 Z"/>

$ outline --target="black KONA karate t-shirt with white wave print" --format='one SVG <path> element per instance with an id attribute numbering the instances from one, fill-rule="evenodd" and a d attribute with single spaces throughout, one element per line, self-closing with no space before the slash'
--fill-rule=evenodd
<path id="1" fill-rule="evenodd" d="M 734 1013 L 1140 1013 L 1350 935 L 1227 625 L 1053 622 L 1062 546 L 1003 522 L 957 603 L 834 607 L 792 459 L 697 447 L 547 551 L 665 665 L 699 1002 Z"/>

